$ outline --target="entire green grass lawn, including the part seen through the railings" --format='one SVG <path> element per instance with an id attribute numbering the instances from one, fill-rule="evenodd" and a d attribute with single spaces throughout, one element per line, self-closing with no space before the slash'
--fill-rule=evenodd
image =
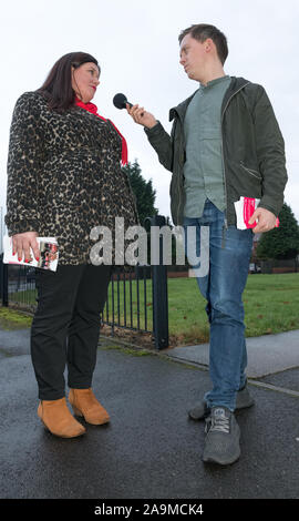
<path id="1" fill-rule="evenodd" d="M 140 282 L 114 283 L 114 319 L 124 325 L 124 305 L 126 306 L 126 324 L 142 328 L 152 328 L 152 280 L 146 285 Z M 146 290 L 146 304 L 144 304 Z M 27 293 L 28 299 L 34 304 L 35 293 Z M 112 285 L 110 286 L 111 303 Z M 130 294 L 133 309 L 130 311 Z M 249 275 L 243 296 L 245 306 L 246 336 L 276 334 L 290 329 L 299 329 L 299 274 Z M 205 311 L 206 302 L 200 295 L 195 278 L 168 278 L 168 313 L 171 345 L 207 343 L 209 325 Z M 2 308 L 3 309 L 3 308 Z M 112 306 L 110 304 L 110 319 Z M 145 324 L 146 316 L 146 324 Z M 1 314 L 0 314 L 1 318 Z M 105 318 L 105 316 L 104 316 Z"/>

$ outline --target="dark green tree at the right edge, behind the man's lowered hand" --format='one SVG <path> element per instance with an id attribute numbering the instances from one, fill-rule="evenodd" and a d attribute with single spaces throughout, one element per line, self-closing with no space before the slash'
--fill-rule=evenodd
<path id="1" fill-rule="evenodd" d="M 278 217 L 279 227 L 261 235 L 256 251 L 259 258 L 295 258 L 299 253 L 299 226 L 287 203 Z"/>

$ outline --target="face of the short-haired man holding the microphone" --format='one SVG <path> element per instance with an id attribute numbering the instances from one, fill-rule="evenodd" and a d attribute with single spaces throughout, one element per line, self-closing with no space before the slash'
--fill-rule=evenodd
<path id="1" fill-rule="evenodd" d="M 206 41 L 199 42 L 186 34 L 183 38 L 179 48 L 179 63 L 184 67 L 186 74 L 190 80 L 200 81 L 203 70 L 206 63 Z"/>

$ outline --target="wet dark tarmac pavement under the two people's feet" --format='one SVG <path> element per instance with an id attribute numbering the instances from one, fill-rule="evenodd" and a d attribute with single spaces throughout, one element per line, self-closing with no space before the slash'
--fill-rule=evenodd
<path id="1" fill-rule="evenodd" d="M 111 422 L 81 419 L 86 435 L 66 440 L 37 416 L 29 329 L 0 330 L 0 498 L 298 499 L 299 331 L 290 333 L 272 344 L 274 366 L 269 336 L 248 346 L 256 405 L 236 415 L 241 456 L 221 468 L 203 463 L 204 423 L 187 416 L 210 387 L 205 346 L 157 353 L 102 339 L 93 389 Z"/>

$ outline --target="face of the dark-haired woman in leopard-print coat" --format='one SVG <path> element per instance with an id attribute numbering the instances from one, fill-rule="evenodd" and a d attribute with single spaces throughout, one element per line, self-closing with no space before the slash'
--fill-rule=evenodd
<path id="1" fill-rule="evenodd" d="M 72 88 L 83 103 L 89 103 L 100 83 L 100 71 L 95 63 L 87 62 L 72 69 Z"/>

